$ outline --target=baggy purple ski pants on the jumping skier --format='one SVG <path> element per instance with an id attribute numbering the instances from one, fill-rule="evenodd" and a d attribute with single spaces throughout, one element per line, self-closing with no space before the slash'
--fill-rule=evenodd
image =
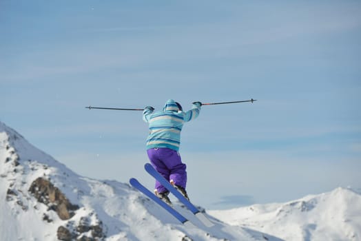
<path id="1" fill-rule="evenodd" d="M 169 148 L 147 149 L 147 154 L 153 167 L 167 180 L 174 180 L 174 184 L 185 189 L 187 183 L 187 166 L 182 163 L 178 151 Z M 158 180 L 156 180 L 158 193 L 167 191 Z"/>

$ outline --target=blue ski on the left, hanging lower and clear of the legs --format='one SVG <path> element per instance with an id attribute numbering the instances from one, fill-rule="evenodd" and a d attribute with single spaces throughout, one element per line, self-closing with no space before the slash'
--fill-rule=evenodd
<path id="1" fill-rule="evenodd" d="M 192 223 L 189 222 L 189 220 L 187 220 L 187 218 L 185 218 L 182 214 L 178 213 L 178 211 L 176 211 L 175 209 L 173 209 L 172 207 L 167 205 L 160 198 L 155 196 L 154 193 L 152 193 L 152 191 L 149 191 L 146 187 L 141 185 L 141 182 L 136 180 L 136 178 L 130 178 L 129 182 L 133 187 L 135 187 L 136 189 L 141 191 L 143 194 L 145 194 L 145 196 L 154 200 L 154 202 L 156 202 L 158 205 L 163 207 L 163 209 L 168 211 L 168 213 L 172 214 L 172 216 L 174 216 L 174 218 L 176 218 L 179 222 L 181 222 L 182 224 L 184 224 L 187 227 L 193 227 Z"/>

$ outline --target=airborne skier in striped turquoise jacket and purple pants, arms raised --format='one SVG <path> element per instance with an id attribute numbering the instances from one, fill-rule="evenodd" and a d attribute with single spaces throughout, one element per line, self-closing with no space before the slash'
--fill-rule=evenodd
<path id="1" fill-rule="evenodd" d="M 199 115 L 201 105 L 200 102 L 194 102 L 192 109 L 183 112 L 178 102 L 169 99 L 161 111 L 154 112 L 151 106 L 145 107 L 143 111 L 143 120 L 149 123 L 146 145 L 150 163 L 188 200 L 187 191 L 185 191 L 186 165 L 182 163 L 179 154 L 180 132 L 185 122 L 192 121 Z M 170 205 L 169 191 L 158 181 L 155 187 L 156 196 Z"/>

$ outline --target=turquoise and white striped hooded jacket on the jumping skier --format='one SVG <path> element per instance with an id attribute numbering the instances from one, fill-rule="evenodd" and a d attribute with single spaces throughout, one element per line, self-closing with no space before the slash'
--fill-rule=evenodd
<path id="1" fill-rule="evenodd" d="M 149 136 L 147 138 L 147 149 L 167 147 L 179 150 L 180 131 L 183 124 L 194 120 L 200 112 L 200 105 L 193 105 L 187 112 L 180 111 L 176 102 L 169 99 L 163 111 L 154 112 L 145 108 L 143 120 L 149 123 Z"/>

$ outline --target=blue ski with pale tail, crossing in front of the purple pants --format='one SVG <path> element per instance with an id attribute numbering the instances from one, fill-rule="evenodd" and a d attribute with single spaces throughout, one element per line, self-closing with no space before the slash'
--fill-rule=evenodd
<path id="1" fill-rule="evenodd" d="M 178 198 L 178 200 L 180 200 L 180 202 L 182 202 L 183 205 L 185 205 L 185 207 L 187 207 L 189 209 L 189 211 L 192 211 L 192 213 L 200 220 L 200 222 L 203 222 L 203 224 L 205 224 L 206 227 L 212 227 L 214 225 L 214 223 L 211 222 L 203 213 L 201 213 L 192 204 L 192 202 L 189 202 L 189 200 L 187 200 L 187 198 L 185 198 L 175 187 L 173 187 L 173 185 L 171 185 L 168 180 L 163 178 L 163 176 L 161 174 L 159 174 L 158 171 L 156 171 L 156 169 L 154 169 L 154 167 L 152 165 L 150 165 L 149 163 L 146 163 L 144 165 L 144 168 L 145 168 L 145 171 L 147 171 L 150 175 L 152 175 L 154 178 L 156 178 L 156 180 L 161 182 L 161 184 L 168 191 L 173 193 L 173 195 L 176 196 L 176 198 Z"/>

